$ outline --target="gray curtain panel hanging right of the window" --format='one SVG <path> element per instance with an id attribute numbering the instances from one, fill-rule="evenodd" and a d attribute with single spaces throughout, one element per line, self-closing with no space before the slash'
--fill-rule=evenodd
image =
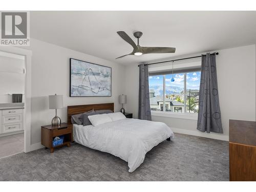
<path id="1" fill-rule="evenodd" d="M 202 55 L 197 129 L 223 133 L 215 54 Z"/>

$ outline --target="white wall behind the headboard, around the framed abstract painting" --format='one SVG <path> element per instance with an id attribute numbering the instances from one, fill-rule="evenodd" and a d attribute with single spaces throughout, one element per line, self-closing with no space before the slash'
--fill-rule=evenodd
<path id="1" fill-rule="evenodd" d="M 25 47 L 24 47 L 25 48 Z M 32 98 L 31 143 L 41 142 L 41 125 L 51 124 L 55 110 L 49 110 L 48 95 L 63 95 L 63 109 L 58 110 L 62 122 L 67 122 L 67 106 L 114 102 L 120 109 L 118 95 L 124 93 L 124 67 L 98 57 L 31 39 L 32 50 Z M 112 67 L 112 97 L 69 97 L 69 59 L 76 58 Z"/>

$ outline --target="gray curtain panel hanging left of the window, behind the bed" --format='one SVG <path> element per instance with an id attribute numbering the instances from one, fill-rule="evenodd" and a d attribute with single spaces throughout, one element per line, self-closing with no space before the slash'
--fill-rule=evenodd
<path id="1" fill-rule="evenodd" d="M 151 121 L 150 90 L 148 88 L 147 65 L 140 64 L 139 81 L 139 119 Z"/>

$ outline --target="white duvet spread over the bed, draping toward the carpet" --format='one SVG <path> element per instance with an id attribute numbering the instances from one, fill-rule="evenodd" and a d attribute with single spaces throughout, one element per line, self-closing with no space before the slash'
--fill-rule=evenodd
<path id="1" fill-rule="evenodd" d="M 162 122 L 127 118 L 97 126 L 74 124 L 73 137 L 79 144 L 128 162 L 129 172 L 133 172 L 148 151 L 165 139 L 172 139 L 174 133 Z"/>

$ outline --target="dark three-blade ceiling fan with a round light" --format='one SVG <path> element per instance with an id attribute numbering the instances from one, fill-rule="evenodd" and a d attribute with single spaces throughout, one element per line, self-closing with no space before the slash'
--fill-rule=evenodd
<path id="1" fill-rule="evenodd" d="M 138 45 L 136 46 L 135 42 L 127 35 L 124 31 L 118 31 L 117 34 L 122 37 L 123 40 L 128 42 L 131 46 L 133 46 L 133 52 L 127 55 L 142 55 L 148 53 L 175 53 L 176 48 L 172 47 L 141 47 L 139 45 L 139 38 L 142 36 L 142 32 L 137 31 L 133 35 L 138 39 Z M 126 55 L 117 57 L 122 58 Z"/>

